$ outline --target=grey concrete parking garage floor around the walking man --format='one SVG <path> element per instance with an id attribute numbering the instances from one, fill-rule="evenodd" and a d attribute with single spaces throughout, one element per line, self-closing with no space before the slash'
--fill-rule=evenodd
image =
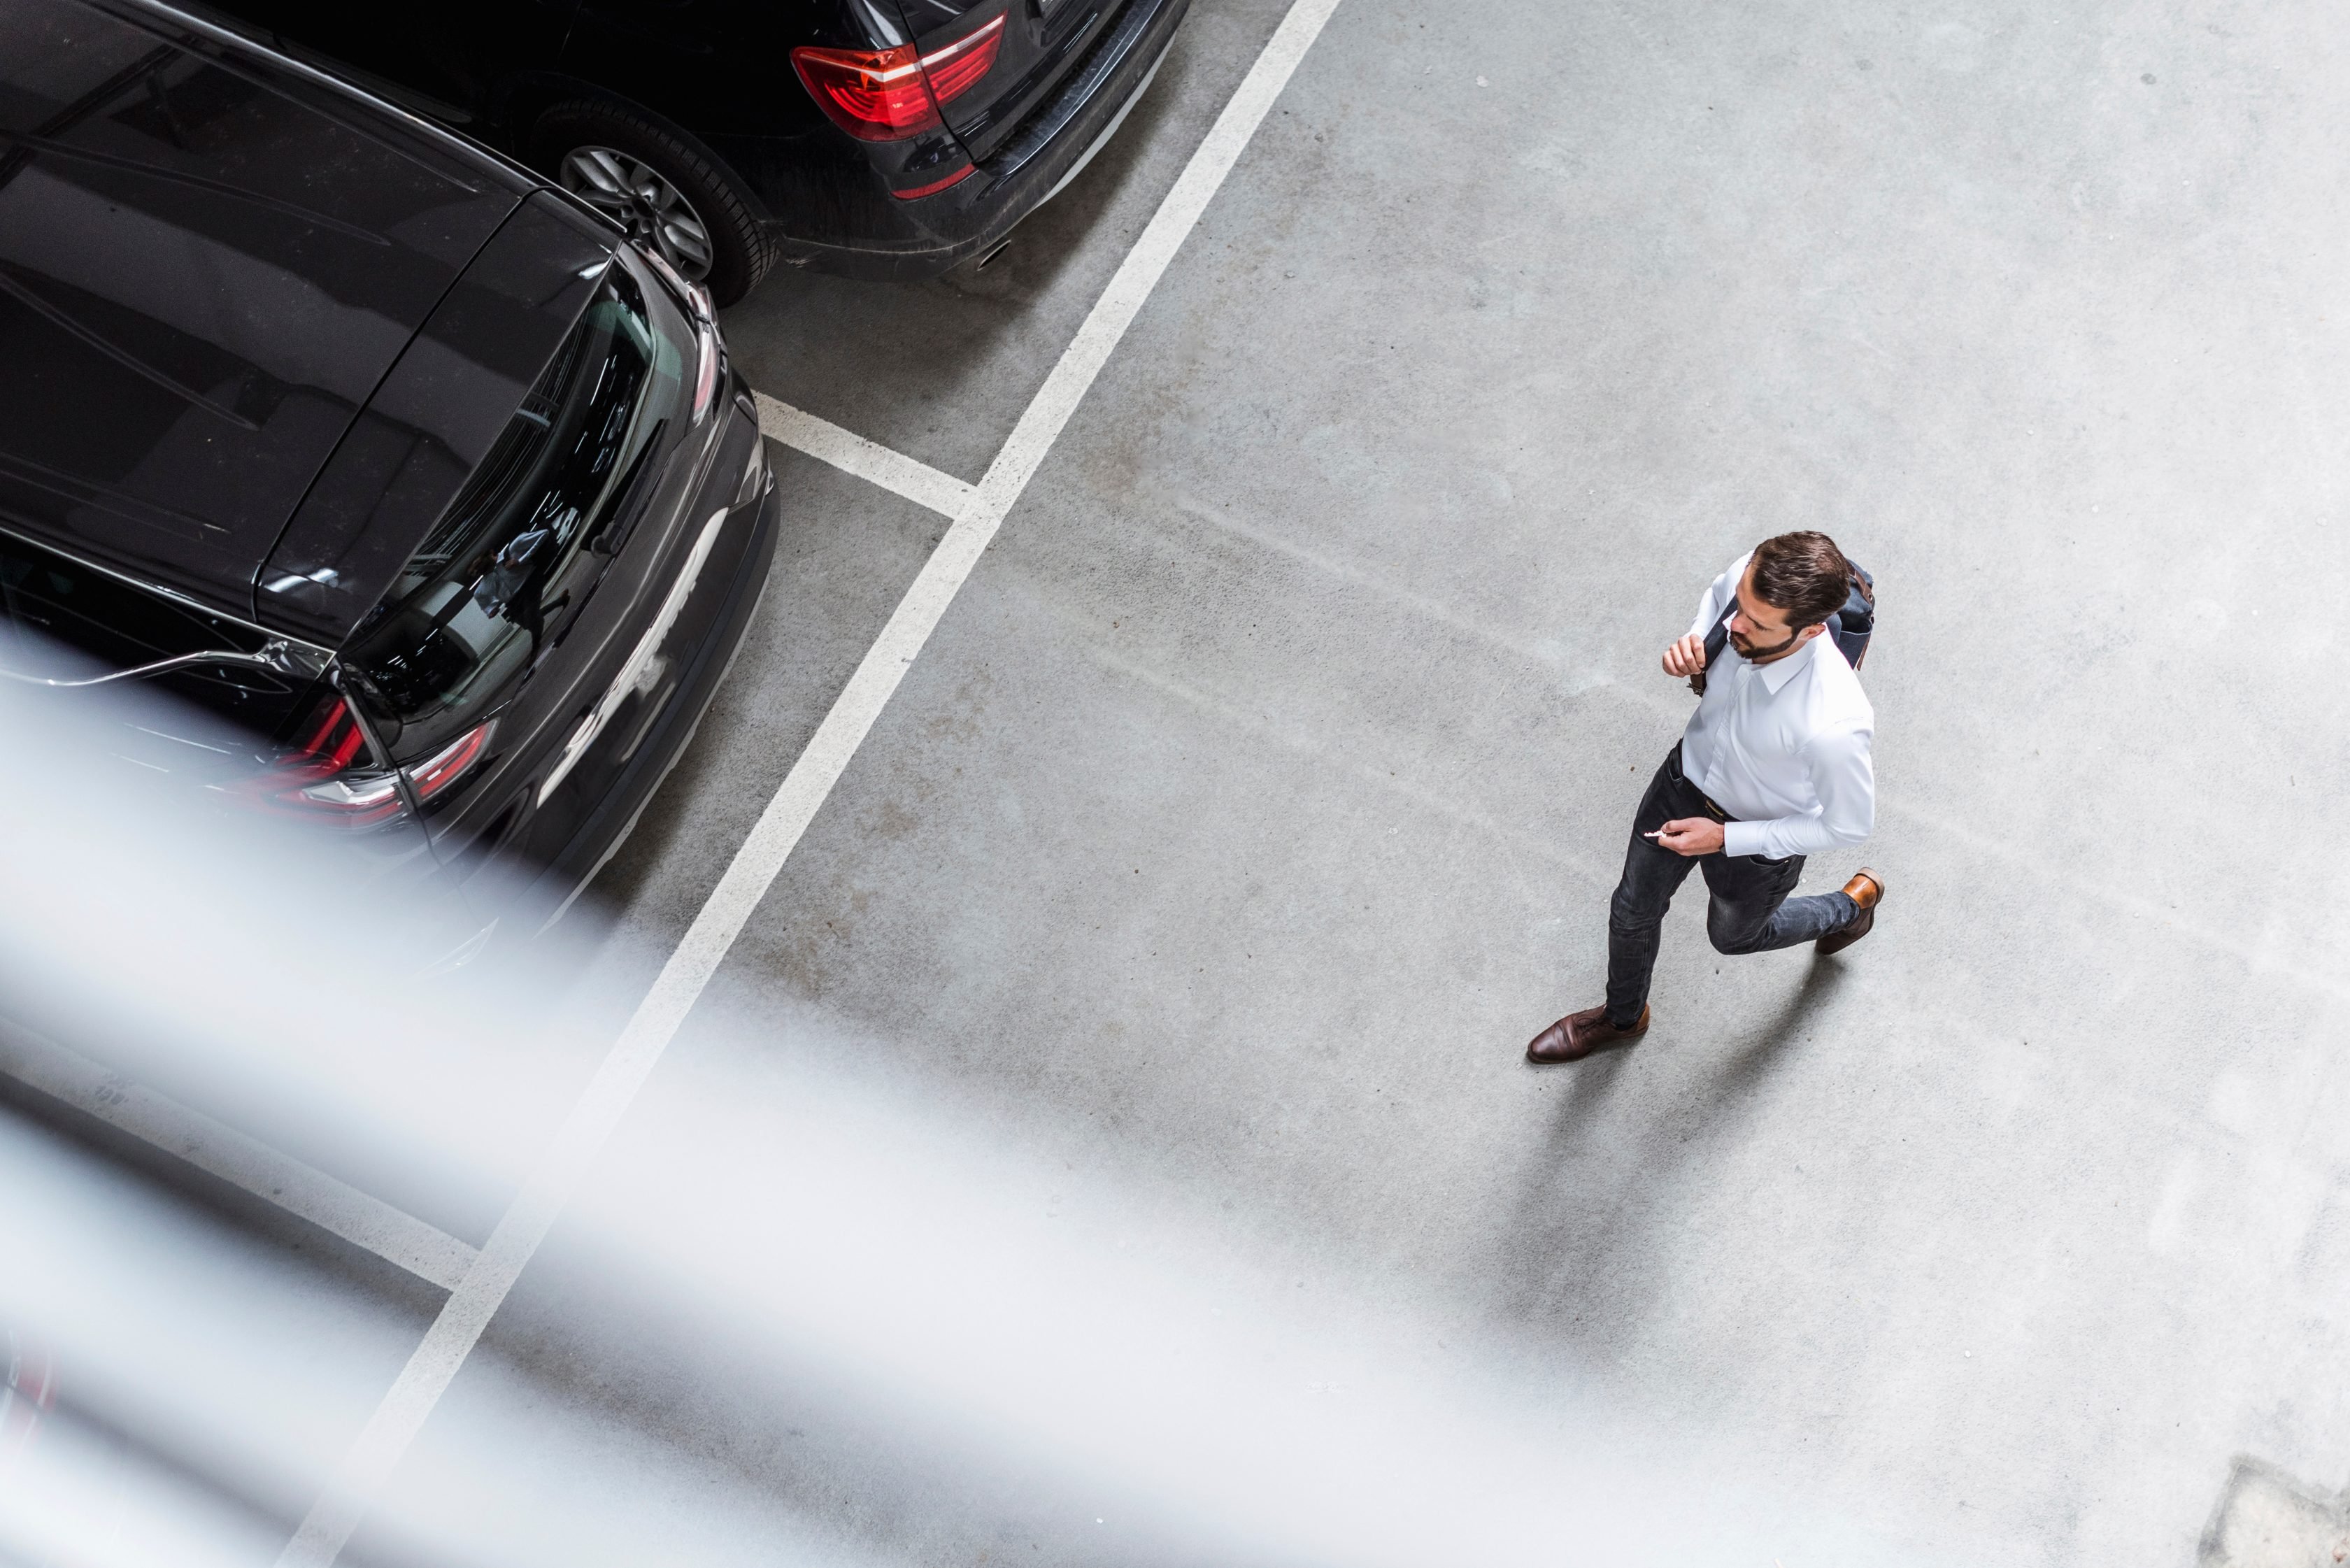
<path id="1" fill-rule="evenodd" d="M 1281 9 L 1196 0 L 987 273 L 771 280 L 750 378 L 978 480 Z M 2345 127 L 2305 0 L 1347 0 L 663 1074 L 818 1053 L 1227 1213 L 1708 1434 L 1840 1561 L 2190 1563 L 2240 1460 L 2329 1493 Z M 942 527 L 776 461 L 761 623 L 599 884 L 618 990 Z M 1880 583 L 1878 835 L 1805 879 L 1880 867 L 1875 936 L 1718 959 L 1685 893 L 1650 1039 L 1530 1070 L 1690 708 L 1657 654 L 1788 527 Z M 566 1267 L 491 1349 L 872 1561 L 1058 1507 L 616 1373 Z M 1828 1561 L 1720 1561 L 1774 1554 Z"/>

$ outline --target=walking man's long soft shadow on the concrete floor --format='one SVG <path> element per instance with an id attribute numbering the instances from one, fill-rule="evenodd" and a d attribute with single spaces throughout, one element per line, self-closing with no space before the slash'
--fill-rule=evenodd
<path id="1" fill-rule="evenodd" d="M 1713 1039 L 1650 1037 L 1570 1067 L 1574 1081 L 1502 1229 L 1497 1316 L 1556 1328 L 1586 1349 L 1624 1338 L 1647 1312 L 1654 1244 L 1687 1215 L 1680 1194 L 1737 1154 L 1770 1077 L 1793 1060 L 1845 980 L 1845 964 L 1812 959 L 1755 1025 Z M 1619 1114 L 1638 1051 L 1652 1051 L 1645 1067 L 1666 1070 L 1671 1084 L 1643 1095 L 1640 1112 Z M 1654 1112 L 1659 1098 L 1664 1114 Z"/>

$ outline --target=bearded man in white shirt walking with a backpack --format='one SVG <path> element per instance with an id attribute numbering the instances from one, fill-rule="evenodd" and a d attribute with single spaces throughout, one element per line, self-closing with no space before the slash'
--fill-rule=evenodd
<path id="1" fill-rule="evenodd" d="M 1826 623 L 1852 592 L 1852 564 L 1826 534 L 1779 534 L 1741 555 L 1697 604 L 1664 672 L 1697 677 L 1690 726 L 1640 797 L 1624 879 L 1607 903 L 1607 1004 L 1567 1013 L 1525 1048 L 1577 1063 L 1647 1032 L 1647 976 L 1666 905 L 1690 867 L 1706 872 L 1706 936 L 1718 952 L 1817 943 L 1842 952 L 1875 924 L 1885 882 L 1861 867 L 1840 893 L 1788 898 L 1802 858 L 1859 844 L 1875 823 L 1868 741 L 1875 715 Z M 1706 668 L 1706 632 L 1727 639 Z"/>

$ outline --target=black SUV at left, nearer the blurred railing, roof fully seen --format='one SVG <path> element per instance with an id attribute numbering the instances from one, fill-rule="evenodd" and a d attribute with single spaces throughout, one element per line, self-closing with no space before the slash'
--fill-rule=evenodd
<path id="1" fill-rule="evenodd" d="M 160 5 L 0 7 L 0 677 L 181 698 L 108 752 L 470 929 L 562 903 L 776 515 L 707 294 L 569 195 Z"/>

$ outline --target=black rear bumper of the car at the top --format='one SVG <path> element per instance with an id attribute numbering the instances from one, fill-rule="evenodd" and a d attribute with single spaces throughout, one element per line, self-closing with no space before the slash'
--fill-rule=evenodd
<path id="1" fill-rule="evenodd" d="M 841 244 L 790 221 L 768 226 L 783 266 L 846 277 L 935 277 L 989 249 L 1036 212 L 1116 129 L 1175 40 L 1191 0 L 1133 0 L 1018 132 L 975 174 L 912 202 L 881 193 L 874 237 Z"/>

